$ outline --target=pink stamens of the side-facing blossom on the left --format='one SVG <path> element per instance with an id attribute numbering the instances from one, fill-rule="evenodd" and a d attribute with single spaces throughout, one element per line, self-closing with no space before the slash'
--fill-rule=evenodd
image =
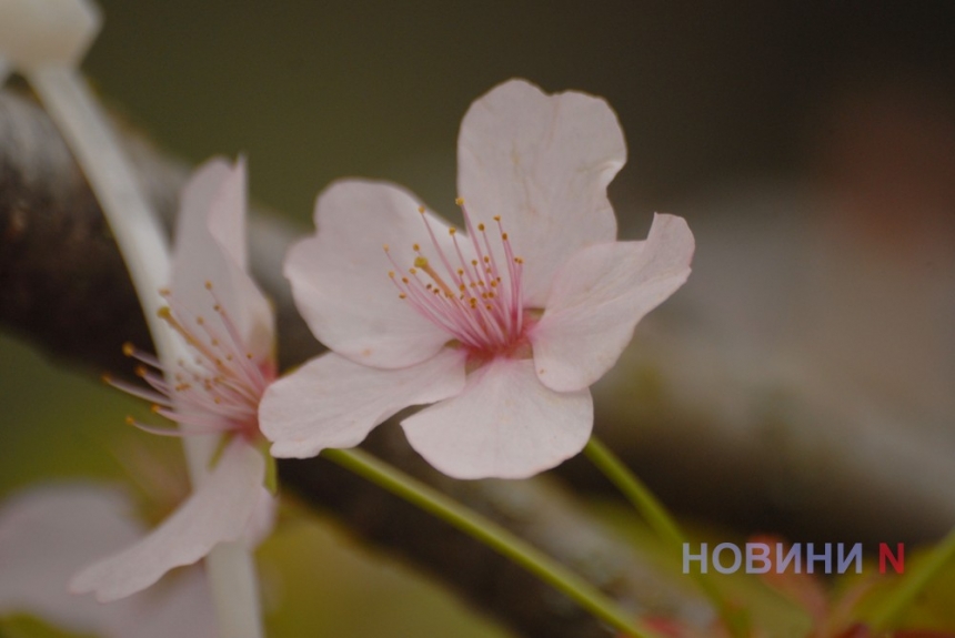
<path id="1" fill-rule="evenodd" d="M 173 436 L 233 433 L 253 440 L 259 436 L 259 402 L 275 378 L 275 365 L 271 359 L 255 361 L 212 284 L 207 282 L 205 288 L 218 321 L 192 314 L 169 291 L 162 291 L 169 305 L 159 311 L 159 316 L 185 340 L 193 354 L 191 361 L 179 359 L 174 366 L 163 366 L 154 356 L 125 344 L 127 356 L 144 364 L 137 367 L 135 374 L 151 389 L 112 378 L 107 382 L 150 401 L 155 414 L 183 426 L 183 429 L 163 428 L 132 417 L 127 419 L 142 429 Z"/>

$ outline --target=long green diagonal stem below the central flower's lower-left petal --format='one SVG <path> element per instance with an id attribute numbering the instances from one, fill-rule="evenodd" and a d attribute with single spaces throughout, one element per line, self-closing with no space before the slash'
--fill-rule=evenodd
<path id="1" fill-rule="evenodd" d="M 593 585 L 496 523 L 360 449 L 325 449 L 322 456 L 445 520 L 563 591 L 581 607 L 634 638 L 660 638 L 634 621 Z"/>

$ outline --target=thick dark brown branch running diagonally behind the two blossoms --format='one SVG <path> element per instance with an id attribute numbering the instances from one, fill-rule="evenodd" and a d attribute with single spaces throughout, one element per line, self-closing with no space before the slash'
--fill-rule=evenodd
<path id="1" fill-rule="evenodd" d="M 188 169 L 135 134 L 125 138 L 143 186 L 168 223 Z M 281 363 L 302 363 L 320 346 L 281 276 L 281 259 L 295 233 L 268 215 L 254 214 L 250 223 L 253 271 L 279 313 Z M 0 323 L 58 361 L 90 372 L 127 369 L 121 344 L 150 343 L 115 244 L 78 166 L 42 110 L 10 91 L 0 92 Z M 382 458 L 504 523 L 627 608 L 698 614 L 696 599 L 651 571 L 551 480 L 454 482 L 423 464 L 396 427 L 380 431 L 368 446 Z M 610 635 L 521 568 L 354 475 L 320 459 L 283 460 L 280 472 L 285 488 L 522 635 Z"/>

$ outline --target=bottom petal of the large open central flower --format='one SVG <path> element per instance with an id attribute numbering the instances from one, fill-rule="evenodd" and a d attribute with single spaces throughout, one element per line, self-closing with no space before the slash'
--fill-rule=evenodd
<path id="1" fill-rule="evenodd" d="M 525 478 L 583 449 L 593 426 L 589 389 L 557 393 L 531 359 L 495 358 L 464 391 L 401 424 L 411 446 L 454 478 Z"/>

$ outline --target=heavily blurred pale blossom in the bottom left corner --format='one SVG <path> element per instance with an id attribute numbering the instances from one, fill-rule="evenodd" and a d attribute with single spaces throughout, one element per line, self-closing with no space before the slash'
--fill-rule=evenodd
<path id="1" fill-rule="evenodd" d="M 105 638 L 215 636 L 212 600 L 198 569 L 113 605 L 67 591 L 79 567 L 143 534 L 132 510 L 124 493 L 92 484 L 32 487 L 8 498 L 0 508 L 0 616 L 29 614 Z"/>

